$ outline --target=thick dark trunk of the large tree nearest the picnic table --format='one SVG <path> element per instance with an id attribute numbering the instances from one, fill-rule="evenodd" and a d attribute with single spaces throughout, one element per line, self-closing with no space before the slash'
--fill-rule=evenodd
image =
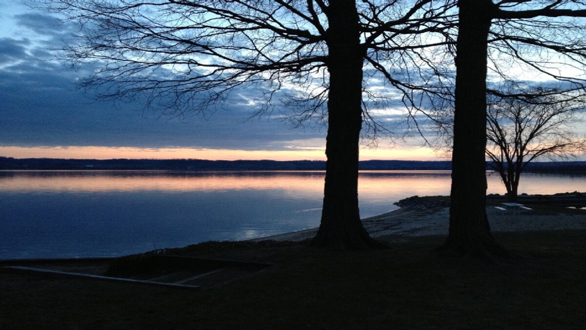
<path id="1" fill-rule="evenodd" d="M 441 251 L 471 258 L 506 253 L 486 215 L 486 65 L 490 0 L 460 0 L 449 234 Z"/>

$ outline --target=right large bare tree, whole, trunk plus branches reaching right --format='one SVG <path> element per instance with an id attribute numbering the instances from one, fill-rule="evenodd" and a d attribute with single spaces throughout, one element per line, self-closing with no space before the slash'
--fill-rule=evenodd
<path id="1" fill-rule="evenodd" d="M 486 93 L 501 93 L 487 88 L 488 70 L 515 80 L 522 74 L 516 69 L 531 68 L 565 83 L 566 92 L 584 89 L 583 78 L 561 72 L 560 66 L 585 67 L 586 24 L 573 19 L 586 16 L 585 7 L 572 0 L 458 1 L 451 207 L 440 251 L 510 257 L 490 234 L 486 215 Z"/>

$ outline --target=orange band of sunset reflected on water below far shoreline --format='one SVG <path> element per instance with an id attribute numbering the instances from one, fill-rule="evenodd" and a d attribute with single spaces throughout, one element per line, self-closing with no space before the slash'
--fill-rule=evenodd
<path id="1" fill-rule="evenodd" d="M 0 191 L 214 191 L 291 189 L 323 191 L 323 171 L 4 171 Z M 445 187 L 448 171 L 363 171 L 360 187 L 366 190 L 413 186 L 421 179 L 426 190 Z M 449 184 L 448 184 L 449 185 Z"/>

